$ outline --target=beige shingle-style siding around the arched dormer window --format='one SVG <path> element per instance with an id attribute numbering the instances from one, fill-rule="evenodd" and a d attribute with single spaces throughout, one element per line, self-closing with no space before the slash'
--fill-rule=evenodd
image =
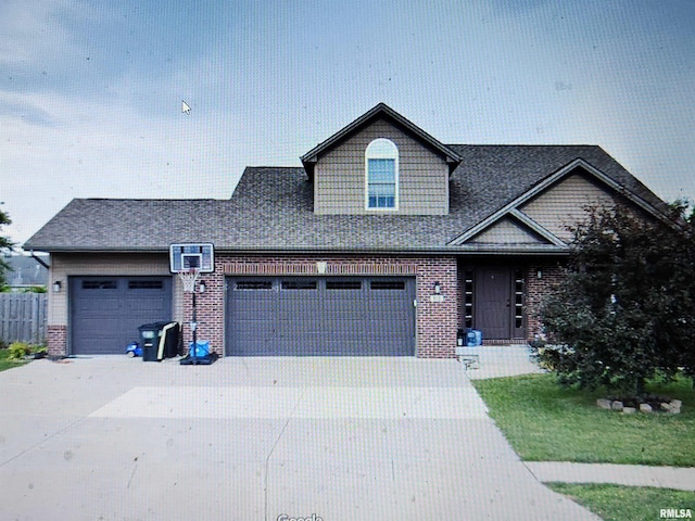
<path id="1" fill-rule="evenodd" d="M 365 151 L 377 138 L 399 149 L 399 209 L 365 209 Z M 318 160 L 314 177 L 317 214 L 446 215 L 448 167 L 419 141 L 379 120 Z"/>

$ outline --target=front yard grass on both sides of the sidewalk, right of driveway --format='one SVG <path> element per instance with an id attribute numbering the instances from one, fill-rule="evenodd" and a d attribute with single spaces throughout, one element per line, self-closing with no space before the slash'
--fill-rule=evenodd
<path id="1" fill-rule="evenodd" d="M 553 374 L 475 380 L 490 416 L 528 461 L 695 467 L 695 392 L 690 379 L 648 392 L 683 401 L 680 415 L 623 415 L 596 407 L 605 391 L 561 389 Z M 661 509 L 695 509 L 695 493 L 604 484 L 552 483 L 605 521 L 650 521 Z"/>

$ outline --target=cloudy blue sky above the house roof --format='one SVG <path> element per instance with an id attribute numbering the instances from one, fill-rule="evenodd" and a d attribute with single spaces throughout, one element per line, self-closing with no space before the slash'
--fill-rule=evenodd
<path id="1" fill-rule="evenodd" d="M 599 144 L 695 199 L 694 97 L 694 0 L 2 0 L 2 233 L 73 198 L 226 199 L 381 101 L 444 143 Z"/>

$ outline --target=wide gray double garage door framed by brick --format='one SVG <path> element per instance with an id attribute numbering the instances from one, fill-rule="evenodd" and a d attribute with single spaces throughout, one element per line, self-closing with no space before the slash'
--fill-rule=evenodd
<path id="1" fill-rule="evenodd" d="M 415 279 L 230 278 L 227 354 L 413 356 Z"/>

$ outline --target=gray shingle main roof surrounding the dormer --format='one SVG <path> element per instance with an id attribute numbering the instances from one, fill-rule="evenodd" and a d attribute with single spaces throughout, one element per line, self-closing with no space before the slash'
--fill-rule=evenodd
<path id="1" fill-rule="evenodd" d="M 599 147 L 447 145 L 463 161 L 445 216 L 315 215 L 304 168 L 247 168 L 230 200 L 72 201 L 25 244 L 45 251 L 453 250 L 446 244 L 577 158 L 656 208 L 660 201 Z"/>

